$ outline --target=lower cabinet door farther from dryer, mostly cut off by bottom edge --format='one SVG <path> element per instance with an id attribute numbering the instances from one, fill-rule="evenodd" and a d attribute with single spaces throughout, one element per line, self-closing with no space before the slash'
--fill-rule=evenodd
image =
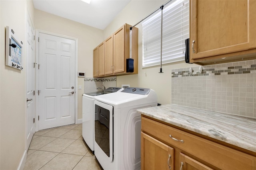
<path id="1" fill-rule="evenodd" d="M 213 170 L 208 166 L 180 153 L 180 170 Z"/>

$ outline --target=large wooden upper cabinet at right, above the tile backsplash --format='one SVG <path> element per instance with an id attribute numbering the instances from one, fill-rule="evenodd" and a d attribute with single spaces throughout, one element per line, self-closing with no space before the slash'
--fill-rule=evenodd
<path id="1" fill-rule="evenodd" d="M 256 59 L 255 11 L 255 0 L 190 0 L 190 61 Z"/>

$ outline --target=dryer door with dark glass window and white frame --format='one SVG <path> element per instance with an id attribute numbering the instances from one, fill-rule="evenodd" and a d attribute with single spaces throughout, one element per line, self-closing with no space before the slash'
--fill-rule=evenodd
<path id="1" fill-rule="evenodd" d="M 94 154 L 101 162 L 113 160 L 113 106 L 95 100 Z"/>

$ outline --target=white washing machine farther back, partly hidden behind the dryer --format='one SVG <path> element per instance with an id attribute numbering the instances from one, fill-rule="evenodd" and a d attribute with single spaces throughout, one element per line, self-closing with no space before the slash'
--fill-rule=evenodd
<path id="1" fill-rule="evenodd" d="M 104 91 L 83 94 L 82 97 L 82 136 L 88 147 L 94 153 L 94 98 L 112 92 L 118 92 L 124 88 L 110 87 Z"/>

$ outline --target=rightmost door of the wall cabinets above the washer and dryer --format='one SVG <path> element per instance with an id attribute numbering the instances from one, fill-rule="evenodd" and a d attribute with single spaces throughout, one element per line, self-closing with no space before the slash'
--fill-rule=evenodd
<path id="1" fill-rule="evenodd" d="M 114 33 L 114 73 L 125 70 L 125 25 Z"/>

